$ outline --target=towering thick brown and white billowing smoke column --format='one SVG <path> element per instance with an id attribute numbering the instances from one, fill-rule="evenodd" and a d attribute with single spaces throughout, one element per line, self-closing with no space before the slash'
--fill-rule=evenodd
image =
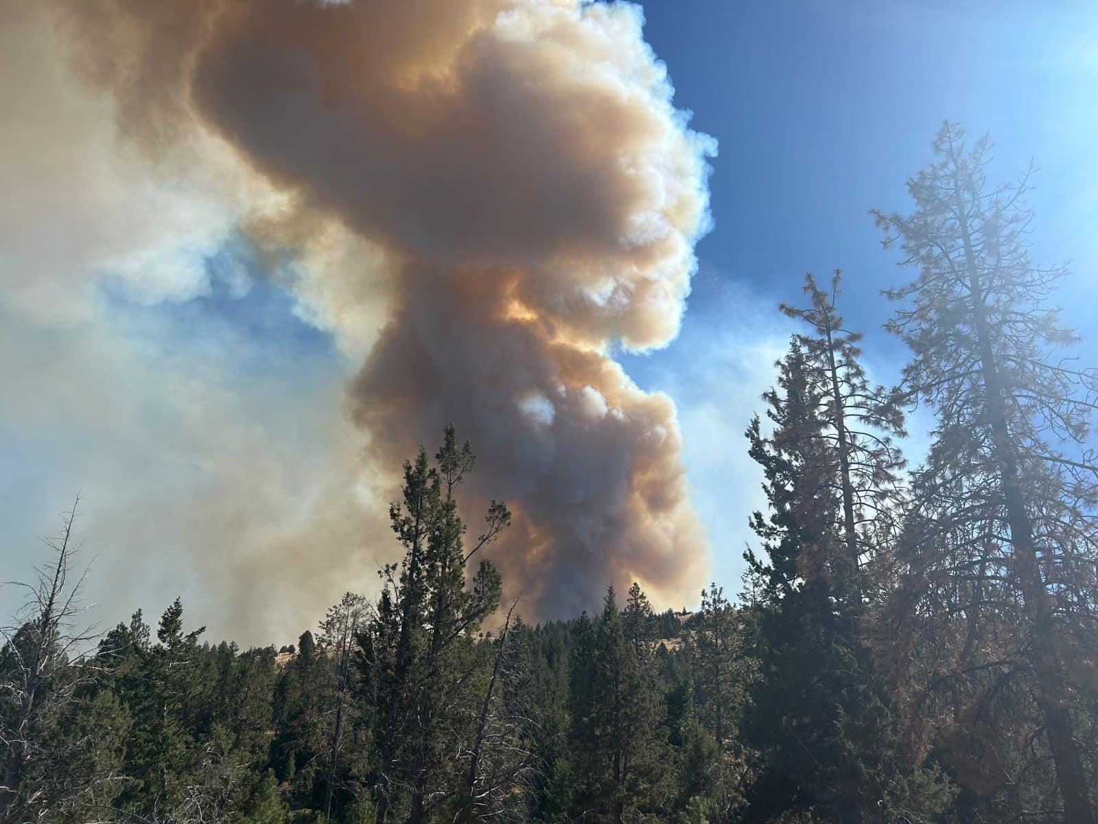
<path id="1" fill-rule="evenodd" d="M 673 108 L 638 8 L 80 0 L 58 20 L 123 141 L 155 159 L 212 133 L 282 196 L 245 226 L 272 260 L 332 233 L 370 249 L 290 286 L 370 342 L 347 398 L 377 477 L 453 421 L 478 508 L 515 512 L 495 558 L 531 612 L 630 580 L 693 600 L 707 548 L 674 404 L 613 353 L 677 333 L 715 143 Z M 356 330 L 379 293 L 380 331 Z"/>

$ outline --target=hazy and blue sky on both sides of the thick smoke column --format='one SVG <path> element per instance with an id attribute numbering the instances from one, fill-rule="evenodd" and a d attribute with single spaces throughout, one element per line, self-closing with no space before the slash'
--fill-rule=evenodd
<path id="1" fill-rule="evenodd" d="M 1094 337 L 1098 9 L 652 0 L 643 12 L 645 38 L 666 64 L 674 105 L 691 110 L 691 127 L 719 144 L 710 158 L 714 229 L 696 247 L 679 336 L 652 354 L 618 353 L 617 360 L 640 387 L 666 391 L 677 404 L 712 575 L 736 591 L 750 538 L 747 514 L 760 503 L 742 432 L 791 331 L 775 304 L 799 298 L 806 270 L 841 266 L 843 308 L 849 323 L 867 333 L 870 371 L 896 378 L 905 353 L 879 331 L 889 308 L 878 291 L 907 276 L 881 249 L 867 211 L 907 208 L 904 181 L 929 159 L 943 119 L 963 122 L 970 134 L 991 133 L 993 179 L 1013 178 L 1031 156 L 1038 162 L 1030 198 L 1035 257 L 1072 261 L 1074 276 L 1062 290 L 1066 318 Z M 31 59 L 34 43 L 23 47 Z M 7 59 L 0 69 L 20 65 L 12 48 Z M 43 76 L 23 86 L 41 85 L 42 99 L 83 116 L 81 107 L 91 103 L 57 98 L 51 82 Z M 37 148 L 30 131 L 21 136 L 14 111 L 0 114 L 0 140 Z M 134 182 L 152 204 L 139 213 L 128 198 L 111 194 L 88 199 L 69 223 L 48 230 L 27 218 L 67 214 L 71 205 L 64 191 L 40 192 L 35 174 L 72 164 L 74 199 L 94 189 L 99 156 L 87 146 L 99 138 L 98 115 L 88 114 L 87 123 L 79 148 L 60 138 L 41 145 L 41 169 L 0 164 L 23 192 L 0 207 L 0 232 L 8 232 L 0 234 L 2 577 L 27 574 L 35 536 L 51 532 L 56 514 L 83 491 L 86 537 L 98 557 L 91 593 L 104 601 L 104 620 L 135 606 L 159 611 L 182 593 L 212 610 L 215 632 L 260 641 L 262 633 L 232 604 L 254 604 L 256 595 L 245 599 L 245 590 L 268 588 L 287 600 L 276 611 L 289 616 L 272 623 L 278 637 L 270 639 L 292 641 L 293 627 L 320 616 L 343 589 L 369 588 L 385 557 L 369 548 L 345 557 L 348 545 L 385 535 L 341 517 L 348 501 L 369 508 L 376 499 L 352 466 L 360 436 L 346 415 L 330 414 L 379 323 L 311 315 L 310 305 L 344 304 L 303 303 L 283 289 L 277 267 L 251 255 L 235 233 L 235 201 L 219 194 L 203 207 L 202 175 L 190 169 L 183 182 L 152 191 Z M 115 160 L 120 179 L 132 174 L 130 158 Z M 221 176 L 220 186 L 232 174 L 232 165 L 225 168 L 205 174 Z M 145 243 L 172 232 L 190 240 Z M 332 248 L 344 249 L 340 243 Z M 57 311 L 64 301 L 52 298 L 54 281 L 26 274 L 64 268 L 81 249 L 99 255 L 94 309 Z M 117 249 L 126 253 L 124 266 L 111 257 Z M 346 263 L 325 254 L 317 253 L 317 266 Z M 171 272 L 170 289 L 149 285 L 157 271 Z M 323 281 L 310 288 L 322 291 Z M 356 297 L 357 308 L 347 311 L 371 315 L 371 296 Z M 91 312 L 93 323 L 85 318 Z M 356 341 L 346 329 L 372 331 Z M 1098 345 L 1080 354 L 1098 361 Z M 248 506 L 219 508 L 226 489 L 236 494 L 249 485 Z M 238 547 L 210 543 L 211 535 L 237 533 L 248 536 Z M 120 552 L 122 545 L 130 549 Z M 219 567 L 223 576 L 210 571 Z"/>

